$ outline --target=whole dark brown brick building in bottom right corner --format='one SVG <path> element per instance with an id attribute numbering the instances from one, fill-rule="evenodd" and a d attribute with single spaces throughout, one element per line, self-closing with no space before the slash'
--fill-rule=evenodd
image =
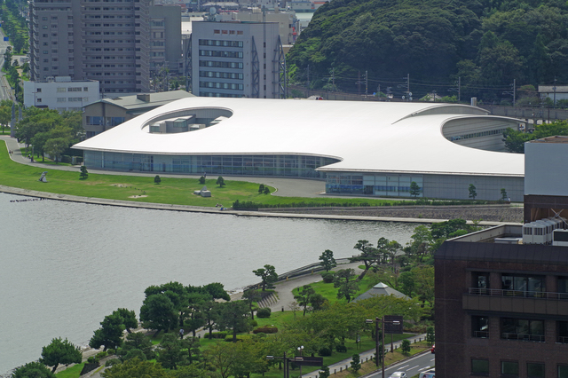
<path id="1" fill-rule="evenodd" d="M 438 249 L 438 378 L 568 377 L 568 247 L 517 244 L 521 232 L 501 225 Z"/>

